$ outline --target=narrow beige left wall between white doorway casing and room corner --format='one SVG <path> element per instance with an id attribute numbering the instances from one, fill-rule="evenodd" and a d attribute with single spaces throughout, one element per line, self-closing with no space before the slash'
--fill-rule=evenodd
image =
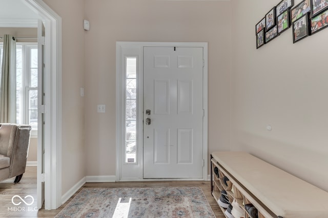
<path id="1" fill-rule="evenodd" d="M 62 120 L 62 193 L 86 176 L 85 98 L 85 32 L 84 1 L 44 0 L 62 20 L 63 41 L 63 120 Z"/>

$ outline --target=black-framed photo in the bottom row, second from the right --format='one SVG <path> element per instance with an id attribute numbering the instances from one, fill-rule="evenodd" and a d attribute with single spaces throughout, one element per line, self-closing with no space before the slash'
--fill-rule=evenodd
<path id="1" fill-rule="evenodd" d="M 293 43 L 309 36 L 309 14 L 310 13 L 306 13 L 293 22 Z"/>

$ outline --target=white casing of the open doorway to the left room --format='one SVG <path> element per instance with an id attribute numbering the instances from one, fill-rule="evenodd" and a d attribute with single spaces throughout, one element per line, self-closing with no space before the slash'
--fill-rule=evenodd
<path id="1" fill-rule="evenodd" d="M 45 209 L 61 205 L 61 17 L 42 0 L 25 0 L 45 21 Z"/>

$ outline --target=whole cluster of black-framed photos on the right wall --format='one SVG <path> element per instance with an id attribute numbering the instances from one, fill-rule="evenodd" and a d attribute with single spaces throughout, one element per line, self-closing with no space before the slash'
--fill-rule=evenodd
<path id="1" fill-rule="evenodd" d="M 256 49 L 292 26 L 293 43 L 328 27 L 328 0 L 282 0 L 255 25 Z"/>

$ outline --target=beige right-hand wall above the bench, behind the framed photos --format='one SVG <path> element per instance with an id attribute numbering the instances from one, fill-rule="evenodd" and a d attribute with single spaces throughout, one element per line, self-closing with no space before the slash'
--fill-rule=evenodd
<path id="1" fill-rule="evenodd" d="M 293 44 L 290 28 L 256 50 L 255 25 L 279 2 L 232 0 L 232 150 L 328 191 L 328 29 Z"/>

